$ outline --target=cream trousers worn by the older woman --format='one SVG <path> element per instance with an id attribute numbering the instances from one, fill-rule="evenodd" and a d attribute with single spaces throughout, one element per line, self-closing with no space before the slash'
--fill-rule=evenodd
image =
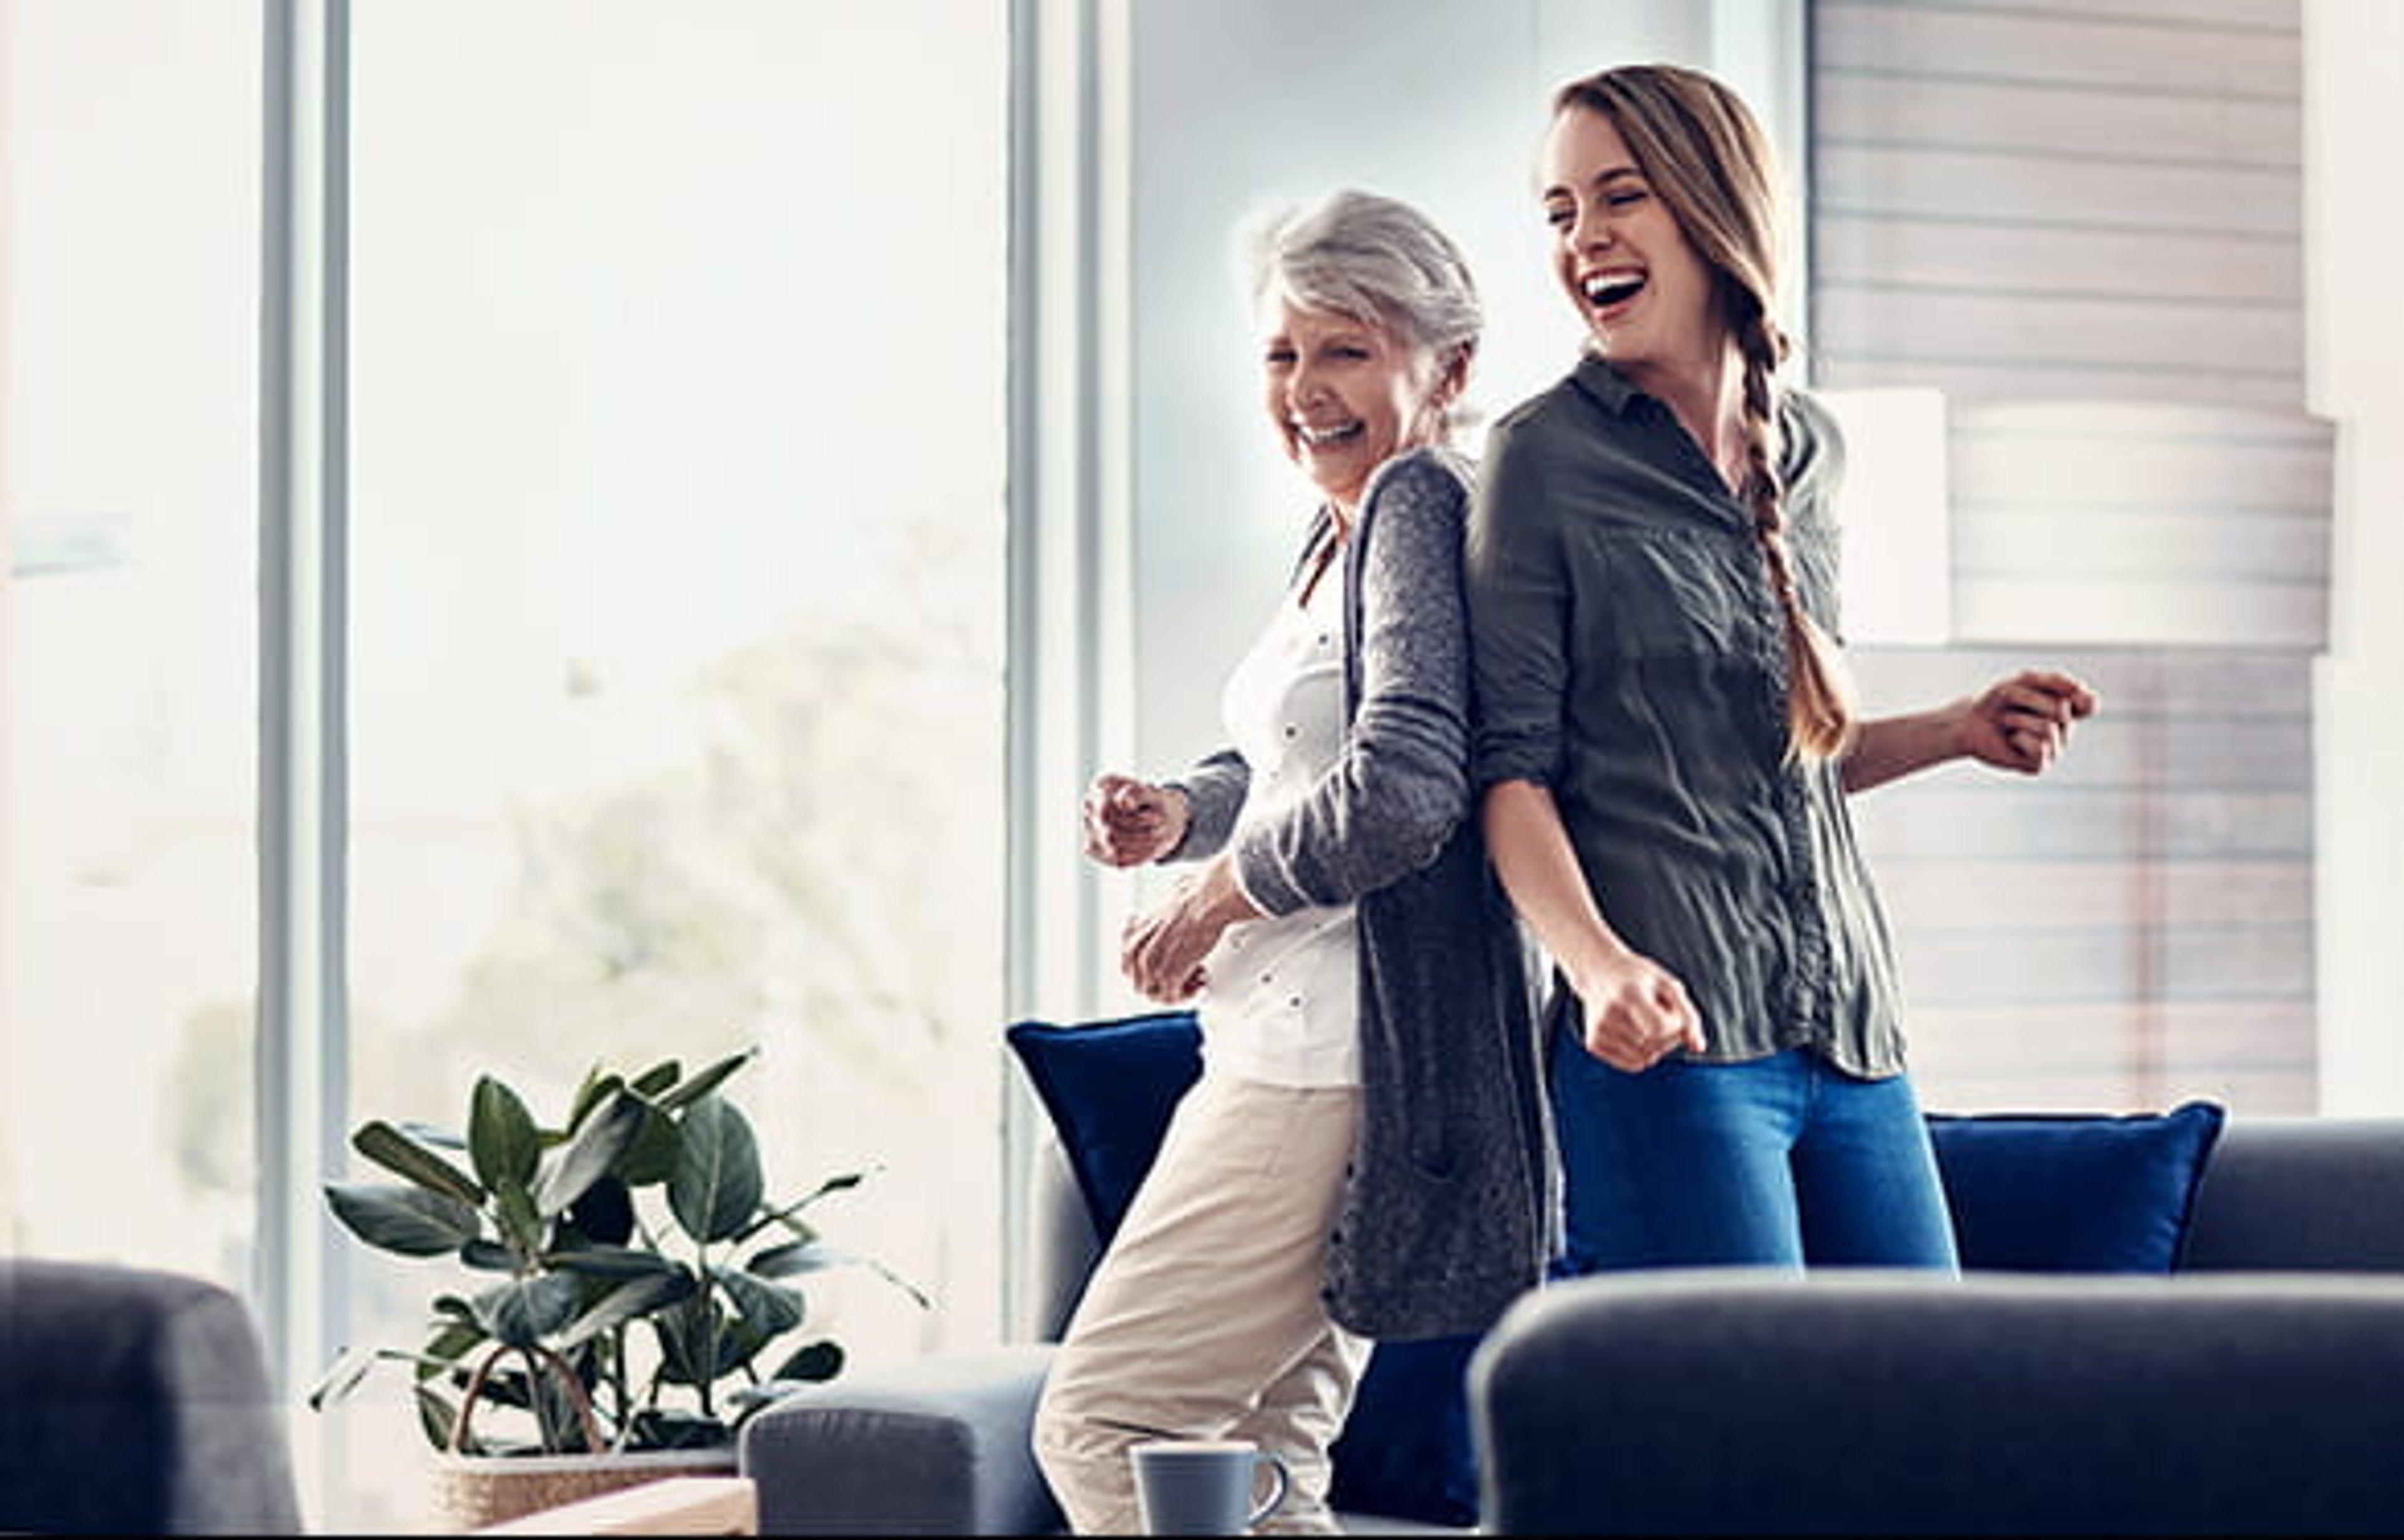
<path id="1" fill-rule="evenodd" d="M 1327 1446 L 1370 1343 L 1320 1288 L 1358 1124 L 1358 1086 L 1204 1074 L 1178 1103 L 1036 1408 L 1072 1530 L 1139 1533 L 1127 1446 L 1154 1437 L 1252 1439 L 1293 1473 L 1260 1528 L 1337 1528 Z"/>

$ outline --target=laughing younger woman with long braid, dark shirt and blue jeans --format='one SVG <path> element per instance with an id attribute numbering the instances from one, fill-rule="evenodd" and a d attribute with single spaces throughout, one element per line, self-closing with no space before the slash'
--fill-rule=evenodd
<path id="1" fill-rule="evenodd" d="M 1837 423 L 1779 380 L 1777 171 L 1668 65 L 1577 79 L 1541 151 L 1584 360 L 1507 413 L 1469 526 L 1483 824 L 1558 968 L 1572 1269 L 1952 1269 L 1846 795 L 2039 774 L 2094 692 L 2017 673 L 1861 721 Z"/>

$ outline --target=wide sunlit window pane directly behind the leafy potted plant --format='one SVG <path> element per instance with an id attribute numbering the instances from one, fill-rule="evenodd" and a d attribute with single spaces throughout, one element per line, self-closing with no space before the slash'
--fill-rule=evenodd
<path id="1" fill-rule="evenodd" d="M 353 1122 L 757 1045 L 935 1300 L 808 1278 L 856 1360 L 1000 1331 L 1005 86 L 1000 5 L 356 10 Z"/>

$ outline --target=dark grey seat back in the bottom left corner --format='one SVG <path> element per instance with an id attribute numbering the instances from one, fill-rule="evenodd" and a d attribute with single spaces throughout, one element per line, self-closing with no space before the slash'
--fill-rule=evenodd
<path id="1" fill-rule="evenodd" d="M 0 1530 L 300 1533 L 250 1309 L 180 1273 L 0 1259 Z"/>

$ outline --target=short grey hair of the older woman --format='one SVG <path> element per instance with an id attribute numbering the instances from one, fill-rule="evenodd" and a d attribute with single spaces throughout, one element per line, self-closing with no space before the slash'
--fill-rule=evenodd
<path id="1" fill-rule="evenodd" d="M 1243 240 L 1252 305 L 1286 300 L 1390 327 L 1440 370 L 1466 365 L 1486 310 L 1452 238 L 1392 197 L 1341 187 L 1257 214 Z"/>

